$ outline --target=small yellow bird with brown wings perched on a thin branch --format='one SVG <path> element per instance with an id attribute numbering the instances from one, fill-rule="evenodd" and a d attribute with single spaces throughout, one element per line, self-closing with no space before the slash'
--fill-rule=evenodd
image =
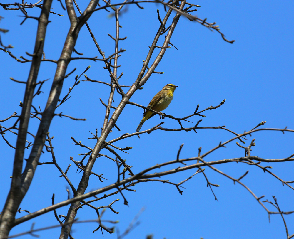
<path id="1" fill-rule="evenodd" d="M 147 108 L 155 110 L 157 112 L 166 109 L 166 107 L 168 107 L 168 105 L 171 103 L 171 100 L 173 99 L 173 92 L 176 90 L 176 87 L 178 87 L 178 85 L 167 84 L 152 98 Z M 143 115 L 143 119 L 137 127 L 137 132 L 140 131 L 144 122 L 154 115 L 156 115 L 156 113 L 153 113 L 150 110 L 146 110 L 145 114 Z"/>

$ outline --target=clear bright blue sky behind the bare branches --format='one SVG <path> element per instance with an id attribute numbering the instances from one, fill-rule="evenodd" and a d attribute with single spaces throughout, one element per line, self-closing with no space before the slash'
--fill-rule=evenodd
<path id="1" fill-rule="evenodd" d="M 85 1 L 86 2 L 86 1 Z M 114 3 L 116 1 L 113 1 Z M 81 9 L 86 5 L 80 4 Z M 211 32 L 198 23 L 193 23 L 181 17 L 176 30 L 171 38 L 171 43 L 178 48 L 170 48 L 166 51 L 163 60 L 157 71 L 165 72 L 163 75 L 153 74 L 144 89 L 137 91 L 131 101 L 148 105 L 149 101 L 167 83 L 179 85 L 175 91 L 171 105 L 164 110 L 166 114 L 175 117 L 190 115 L 199 104 L 199 110 L 210 105 L 218 105 L 226 99 L 224 105 L 216 110 L 205 112 L 205 118 L 199 126 L 222 126 L 237 133 L 243 133 L 255 127 L 261 121 L 267 121 L 264 127 L 294 129 L 293 122 L 293 28 L 294 20 L 293 1 L 197 1 L 196 12 L 199 18 L 207 18 L 209 22 L 217 22 L 220 30 L 228 40 L 235 40 L 233 44 L 223 41 L 220 34 Z M 120 83 L 131 85 L 141 70 L 142 60 L 146 58 L 154 35 L 159 27 L 156 9 L 164 15 L 161 5 L 141 4 L 145 9 L 138 9 L 137 6 L 128 6 L 128 11 L 120 18 L 120 37 L 127 36 L 120 41 L 119 48 L 126 49 L 119 58 L 118 75 L 123 72 Z M 66 11 L 61 9 L 60 3 L 53 2 L 52 11 L 64 14 L 59 17 L 51 14 L 47 28 L 44 51 L 47 59 L 57 60 L 60 56 L 64 43 L 69 19 Z M 39 10 L 28 9 L 31 16 L 39 16 Z M 114 41 L 107 36 L 107 33 L 115 36 L 115 19 L 108 17 L 105 10 L 95 12 L 88 21 L 98 44 L 105 55 L 114 53 Z M 173 13 L 174 14 L 174 13 Z M 4 17 L 1 20 L 0 28 L 9 29 L 6 34 L 1 33 L 1 40 L 4 44 L 14 46 L 11 49 L 16 57 L 26 55 L 26 51 L 33 52 L 36 23 L 34 19 L 28 19 L 20 26 L 23 20 L 19 11 L 0 11 Z M 172 18 L 171 18 L 172 19 Z M 169 23 L 171 20 L 169 21 Z M 168 24 L 167 24 L 168 25 Z M 164 36 L 159 40 L 160 45 Z M 78 36 L 75 46 L 78 52 L 84 53 L 85 57 L 100 55 L 91 40 L 89 33 L 84 26 Z M 158 52 L 158 51 L 156 51 Z M 73 56 L 76 57 L 75 53 Z M 154 59 L 154 57 L 153 57 Z M 69 87 L 74 83 L 75 75 L 80 75 L 88 65 L 91 68 L 86 75 L 93 80 L 109 81 L 109 73 L 103 69 L 104 63 L 90 60 L 72 61 L 67 73 L 75 67 L 77 70 L 64 81 L 61 98 L 67 93 Z M 24 84 L 12 82 L 9 77 L 16 80 L 26 81 L 30 69 L 29 63 L 17 63 L 7 53 L 0 52 L 1 65 L 1 110 L 0 119 L 10 116 L 14 111 L 21 113 L 19 101 L 23 101 Z M 40 105 L 44 109 L 49 94 L 54 72 L 55 63 L 41 63 L 38 76 L 39 80 L 50 78 L 42 88 L 44 93 L 34 98 L 35 107 Z M 80 78 L 83 80 L 83 76 Z M 63 170 L 71 161 L 81 160 L 80 153 L 86 151 L 73 145 L 71 136 L 77 141 L 94 147 L 91 132 L 103 125 L 105 107 L 101 105 L 99 98 L 107 102 L 109 87 L 90 82 L 81 82 L 71 92 L 71 98 L 56 110 L 56 113 L 63 112 L 77 118 L 86 118 L 87 121 L 73 121 L 68 118 L 55 117 L 50 126 L 50 136 L 54 136 L 52 143 L 56 160 Z M 114 97 L 117 105 L 120 100 L 118 94 Z M 112 112 L 111 112 L 112 113 Z M 114 139 L 126 132 L 133 133 L 141 120 L 143 110 L 128 105 L 117 121 L 121 132 L 116 129 L 109 135 L 108 139 Z M 184 127 L 192 127 L 200 117 L 192 117 L 193 124 L 183 122 Z M 149 129 L 162 122 L 158 116 L 145 122 L 141 130 Z M 178 128 L 176 121 L 166 118 L 163 127 Z M 38 120 L 32 119 L 29 124 L 29 131 L 36 132 Z M 12 125 L 7 122 L 3 126 Z M 142 169 L 153 166 L 157 163 L 176 159 L 179 146 L 184 143 L 180 158 L 194 157 L 198 154 L 198 148 L 206 152 L 219 144 L 220 141 L 233 137 L 227 131 L 221 129 L 200 129 L 195 132 L 161 132 L 141 135 L 141 138 L 131 137 L 117 142 L 118 147 L 131 146 L 129 154 L 120 153 L 126 163 L 133 165 L 133 171 L 139 172 Z M 13 134 L 6 134 L 6 138 L 12 145 L 15 145 L 16 137 Z M 248 142 L 256 138 L 256 146 L 253 147 L 251 155 L 260 156 L 266 159 L 286 158 L 294 153 L 294 134 L 290 132 L 257 132 L 252 137 L 247 136 Z M 29 142 L 32 141 L 28 137 Z M 246 145 L 247 145 L 246 144 Z M 45 149 L 44 149 L 45 151 Z M 9 191 L 9 178 L 12 174 L 14 150 L 4 140 L 0 141 L 0 152 L 2 161 L 1 172 L 1 197 L 0 207 L 2 208 Z M 101 153 L 108 154 L 105 150 Z M 29 150 L 26 150 L 25 157 L 28 157 Z M 206 161 L 241 157 L 244 150 L 238 147 L 235 142 L 227 145 L 227 148 L 218 149 L 208 155 Z M 42 154 L 41 162 L 51 161 L 51 154 Z M 293 162 L 279 164 L 261 164 L 272 166 L 271 171 L 285 181 L 293 181 Z M 167 167 L 171 169 L 177 166 Z M 280 181 L 274 179 L 261 169 L 245 164 L 223 164 L 216 166 L 219 170 L 238 178 L 249 170 L 248 175 L 242 179 L 257 196 L 265 195 L 264 199 L 273 201 L 276 196 L 279 206 L 283 211 L 293 211 L 294 191 L 283 186 Z M 180 195 L 172 185 L 159 182 L 141 183 L 135 188 L 136 192 L 126 191 L 129 207 L 123 205 L 123 198 L 115 195 L 100 201 L 95 206 L 108 205 L 115 199 L 121 200 L 113 204 L 113 209 L 119 214 L 106 210 L 102 219 L 119 220 L 116 226 L 122 233 L 134 216 L 145 207 L 145 211 L 139 217 L 138 225 L 126 236 L 129 239 L 146 238 L 146 235 L 153 234 L 154 239 L 184 239 L 184 238 L 286 238 L 285 227 L 279 215 L 271 216 L 268 221 L 268 214 L 253 198 L 253 196 L 242 186 L 234 185 L 233 182 L 220 174 L 205 167 L 206 175 L 211 183 L 219 184 L 220 187 L 213 188 L 218 202 L 210 189 L 206 187 L 206 181 L 202 174 L 197 174 L 187 181 L 183 186 L 183 195 Z M 165 170 L 165 169 L 162 169 Z M 108 180 L 101 183 L 96 177 L 91 177 L 87 192 L 106 186 L 117 179 L 116 166 L 106 158 L 99 158 L 93 168 L 97 174 L 102 174 Z M 159 171 L 159 169 L 157 170 Z M 161 179 L 169 179 L 178 183 L 195 173 L 196 170 L 185 171 L 180 174 L 170 175 Z M 53 165 L 38 166 L 34 180 L 21 204 L 22 209 L 31 212 L 51 205 L 52 194 L 55 193 L 55 202 L 67 199 L 67 183 L 59 177 L 60 173 Z M 76 173 L 75 166 L 71 166 L 68 176 L 77 188 L 81 174 Z M 71 195 L 72 196 L 72 195 Z M 273 206 L 267 205 L 270 210 Z M 0 209 L 1 210 L 1 209 Z M 59 208 L 58 215 L 66 215 L 68 207 Z M 24 216 L 22 212 L 17 217 Z M 96 213 L 90 208 L 83 207 L 78 211 L 79 220 L 96 219 Z M 294 216 L 285 216 L 289 233 L 294 233 Z M 35 222 L 35 228 L 57 224 L 53 212 L 49 212 L 39 218 L 34 218 L 11 230 L 11 235 L 29 230 L 31 223 Z M 106 224 L 111 226 L 110 224 Z M 101 232 L 92 233 L 97 227 L 94 223 L 78 224 L 73 226 L 72 236 L 74 238 L 101 238 Z M 57 238 L 60 229 L 46 230 L 37 233 L 41 238 Z M 31 238 L 26 235 L 22 238 Z M 104 238 L 116 238 L 116 235 L 109 235 L 104 232 Z"/>

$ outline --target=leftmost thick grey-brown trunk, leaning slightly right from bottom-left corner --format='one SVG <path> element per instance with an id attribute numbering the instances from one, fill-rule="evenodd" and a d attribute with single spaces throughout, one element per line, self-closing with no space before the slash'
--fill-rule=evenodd
<path id="1" fill-rule="evenodd" d="M 32 104 L 33 96 L 34 96 L 34 89 L 36 86 L 36 80 L 39 73 L 39 67 L 40 67 L 42 53 L 43 53 L 46 27 L 49 22 L 48 17 L 49 17 L 51 3 L 52 3 L 52 0 L 47 0 L 43 4 L 41 15 L 38 19 L 39 24 L 38 24 L 35 47 L 34 47 L 34 55 L 33 55 L 33 60 L 31 63 L 29 77 L 26 82 L 26 90 L 25 90 L 24 101 L 22 105 L 22 112 L 20 116 L 19 133 L 18 133 L 18 137 L 16 141 L 16 151 L 14 156 L 14 167 L 13 167 L 11 188 L 9 191 L 9 195 L 6 199 L 4 209 L 0 215 L 0 238 L 4 238 L 8 236 L 9 231 L 11 230 L 13 226 L 13 220 L 11 220 L 12 219 L 11 217 L 14 218 L 16 211 L 28 189 L 27 187 L 26 190 L 21 190 L 22 181 L 23 181 L 23 177 L 21 173 L 22 173 L 22 166 L 23 166 L 23 159 L 24 159 L 24 148 L 26 144 L 26 135 L 27 135 L 29 119 L 30 119 L 31 104 Z M 44 137 L 46 137 L 46 135 L 44 135 Z M 26 175 L 24 174 L 24 176 Z M 31 181 L 31 179 L 29 179 L 29 181 Z"/>

